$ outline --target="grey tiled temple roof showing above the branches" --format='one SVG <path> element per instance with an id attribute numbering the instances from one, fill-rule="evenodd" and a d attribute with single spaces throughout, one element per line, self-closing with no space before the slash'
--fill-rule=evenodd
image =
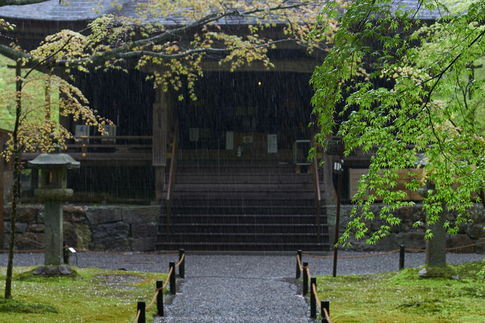
<path id="1" fill-rule="evenodd" d="M 48 0 L 42 3 L 33 3 L 24 6 L 3 6 L 0 7 L 0 17 L 10 19 L 31 19 L 39 21 L 90 21 L 105 14 L 123 15 L 125 17 L 136 17 L 136 5 L 144 0 L 118 0 L 123 8 L 117 10 L 111 6 L 112 0 L 99 0 L 102 8 L 98 8 L 95 1 L 87 0 L 68 0 L 69 6 L 63 5 L 59 0 Z M 400 4 L 406 8 L 416 8 L 417 0 L 398 0 L 396 8 Z M 430 12 L 429 10 L 420 10 L 418 19 L 436 19 L 439 12 Z M 179 19 L 157 19 L 165 25 L 179 24 Z M 230 19 L 222 21 L 220 24 L 241 24 L 245 21 L 240 19 Z"/>

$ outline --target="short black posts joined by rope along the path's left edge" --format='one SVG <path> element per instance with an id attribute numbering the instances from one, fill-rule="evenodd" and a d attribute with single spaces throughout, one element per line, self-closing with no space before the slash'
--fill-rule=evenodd
<path id="1" fill-rule="evenodd" d="M 174 254 L 177 255 L 177 254 Z M 134 320 L 135 323 L 146 323 L 146 317 L 145 317 L 145 311 L 148 310 L 148 308 L 152 307 L 153 304 L 155 304 L 155 301 L 157 301 L 157 315 L 159 316 L 164 316 L 164 295 L 163 293 L 160 293 L 163 291 L 168 284 L 170 284 L 169 289 L 170 289 L 170 294 L 175 295 L 177 286 L 176 286 L 176 275 L 175 275 L 175 268 L 179 268 L 179 277 L 180 278 L 185 278 L 185 250 L 180 249 L 179 250 L 179 262 L 175 264 L 175 262 L 170 262 L 168 263 L 168 266 L 170 270 L 168 270 L 168 275 L 167 279 L 165 281 L 162 280 L 157 280 L 156 286 L 155 286 L 155 296 L 152 298 L 152 302 L 150 302 L 150 305 L 145 306 L 145 302 L 138 302 L 137 304 L 137 312 L 136 312 L 136 319 Z"/>

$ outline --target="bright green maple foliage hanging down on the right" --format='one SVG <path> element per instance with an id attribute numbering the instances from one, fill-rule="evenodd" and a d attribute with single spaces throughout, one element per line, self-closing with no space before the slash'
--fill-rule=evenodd
<path id="1" fill-rule="evenodd" d="M 430 26 L 421 23 L 420 15 L 430 12 L 441 19 Z M 485 53 L 485 2 L 447 7 L 443 1 L 423 0 L 405 7 L 401 1 L 356 0 L 338 15 L 337 3 L 330 1 L 319 16 L 324 28 L 326 17 L 338 19 L 339 28 L 333 48 L 311 80 L 321 129 L 317 140 L 324 145 L 337 131 L 346 155 L 356 149 L 375 150 L 353 198 L 362 215 L 355 207 L 339 243 L 351 230 L 358 239 L 366 235 L 363 222 L 374 218 L 370 207 L 376 200 L 388 206 L 379 214 L 385 224 L 368 236 L 369 243 L 400 223 L 391 211 L 412 203 L 403 201 L 406 192 L 393 187 L 399 169 L 416 167 L 417 154 L 425 156 L 420 167 L 436 185 L 436 192 L 430 191 L 423 201 L 427 222 L 436 222 L 445 202 L 459 214 L 455 223 L 445 224 L 448 232 L 456 233 L 475 192 L 483 196 L 485 183 L 485 140 L 477 118 L 484 110 L 485 81 L 473 69 Z M 392 85 L 380 87 L 380 80 Z M 349 117 L 337 124 L 337 116 L 344 114 Z M 405 186 L 416 191 L 422 184 L 414 178 Z M 427 230 L 425 237 L 432 232 Z"/>

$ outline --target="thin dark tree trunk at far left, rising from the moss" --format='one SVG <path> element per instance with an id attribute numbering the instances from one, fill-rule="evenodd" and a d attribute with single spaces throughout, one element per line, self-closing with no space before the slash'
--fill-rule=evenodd
<path id="1" fill-rule="evenodd" d="M 15 216 L 17 216 L 17 199 L 19 198 L 19 145 L 17 142 L 17 135 L 19 133 L 19 121 L 21 117 L 21 89 L 22 81 L 21 76 L 21 62 L 17 61 L 17 95 L 16 111 L 15 111 L 15 127 L 12 133 L 13 140 L 13 184 L 12 184 L 12 216 L 10 216 L 10 246 L 8 248 L 8 265 L 7 265 L 7 277 L 5 280 L 5 298 L 12 298 L 12 270 L 13 270 L 13 250 L 15 247 Z"/>

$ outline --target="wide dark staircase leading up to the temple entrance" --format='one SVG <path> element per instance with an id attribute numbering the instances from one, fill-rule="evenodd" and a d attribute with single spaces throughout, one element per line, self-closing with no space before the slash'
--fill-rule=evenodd
<path id="1" fill-rule="evenodd" d="M 312 174 L 294 166 L 179 164 L 175 183 L 157 250 L 330 250 L 325 216 L 317 240 Z"/>

